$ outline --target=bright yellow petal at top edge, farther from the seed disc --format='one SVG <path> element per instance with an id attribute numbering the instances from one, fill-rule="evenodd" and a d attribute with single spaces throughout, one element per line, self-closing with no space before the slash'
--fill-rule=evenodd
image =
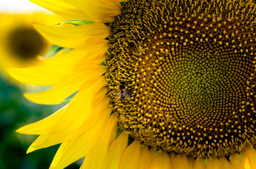
<path id="1" fill-rule="evenodd" d="M 70 4 L 64 3 L 62 0 L 30 0 L 33 3 L 42 6 L 42 8 L 46 8 L 58 15 L 63 15 L 72 19 L 83 19 L 88 18 L 88 16 L 83 13 L 83 11 L 79 11 L 74 6 Z"/>

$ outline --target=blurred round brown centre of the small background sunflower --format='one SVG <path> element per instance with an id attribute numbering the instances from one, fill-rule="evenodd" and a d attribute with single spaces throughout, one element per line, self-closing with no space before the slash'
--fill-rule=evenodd
<path id="1" fill-rule="evenodd" d="M 35 58 L 44 46 L 45 42 L 42 36 L 29 27 L 13 30 L 8 38 L 8 48 L 18 59 Z"/>

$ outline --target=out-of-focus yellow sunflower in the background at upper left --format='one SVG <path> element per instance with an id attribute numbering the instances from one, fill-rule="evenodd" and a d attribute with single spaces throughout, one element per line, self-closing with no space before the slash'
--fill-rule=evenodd
<path id="1" fill-rule="evenodd" d="M 50 43 L 33 27 L 33 23 L 54 25 L 66 18 L 50 13 L 0 13 L 0 67 L 2 70 L 35 64 Z"/>

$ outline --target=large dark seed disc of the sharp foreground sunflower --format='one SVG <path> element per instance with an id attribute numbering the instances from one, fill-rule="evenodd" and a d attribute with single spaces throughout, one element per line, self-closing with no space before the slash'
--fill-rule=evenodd
<path id="1" fill-rule="evenodd" d="M 120 127 L 194 157 L 255 145 L 255 4 L 131 0 L 123 8 L 106 61 Z"/>

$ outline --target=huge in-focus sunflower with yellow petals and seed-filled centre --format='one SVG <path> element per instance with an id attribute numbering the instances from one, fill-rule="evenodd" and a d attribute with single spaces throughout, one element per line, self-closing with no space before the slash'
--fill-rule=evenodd
<path id="1" fill-rule="evenodd" d="M 9 73 L 53 86 L 24 94 L 38 104 L 76 94 L 17 130 L 40 135 L 28 153 L 60 144 L 50 168 L 256 168 L 254 1 L 32 1 L 75 26 L 35 25 L 64 52 Z"/>

